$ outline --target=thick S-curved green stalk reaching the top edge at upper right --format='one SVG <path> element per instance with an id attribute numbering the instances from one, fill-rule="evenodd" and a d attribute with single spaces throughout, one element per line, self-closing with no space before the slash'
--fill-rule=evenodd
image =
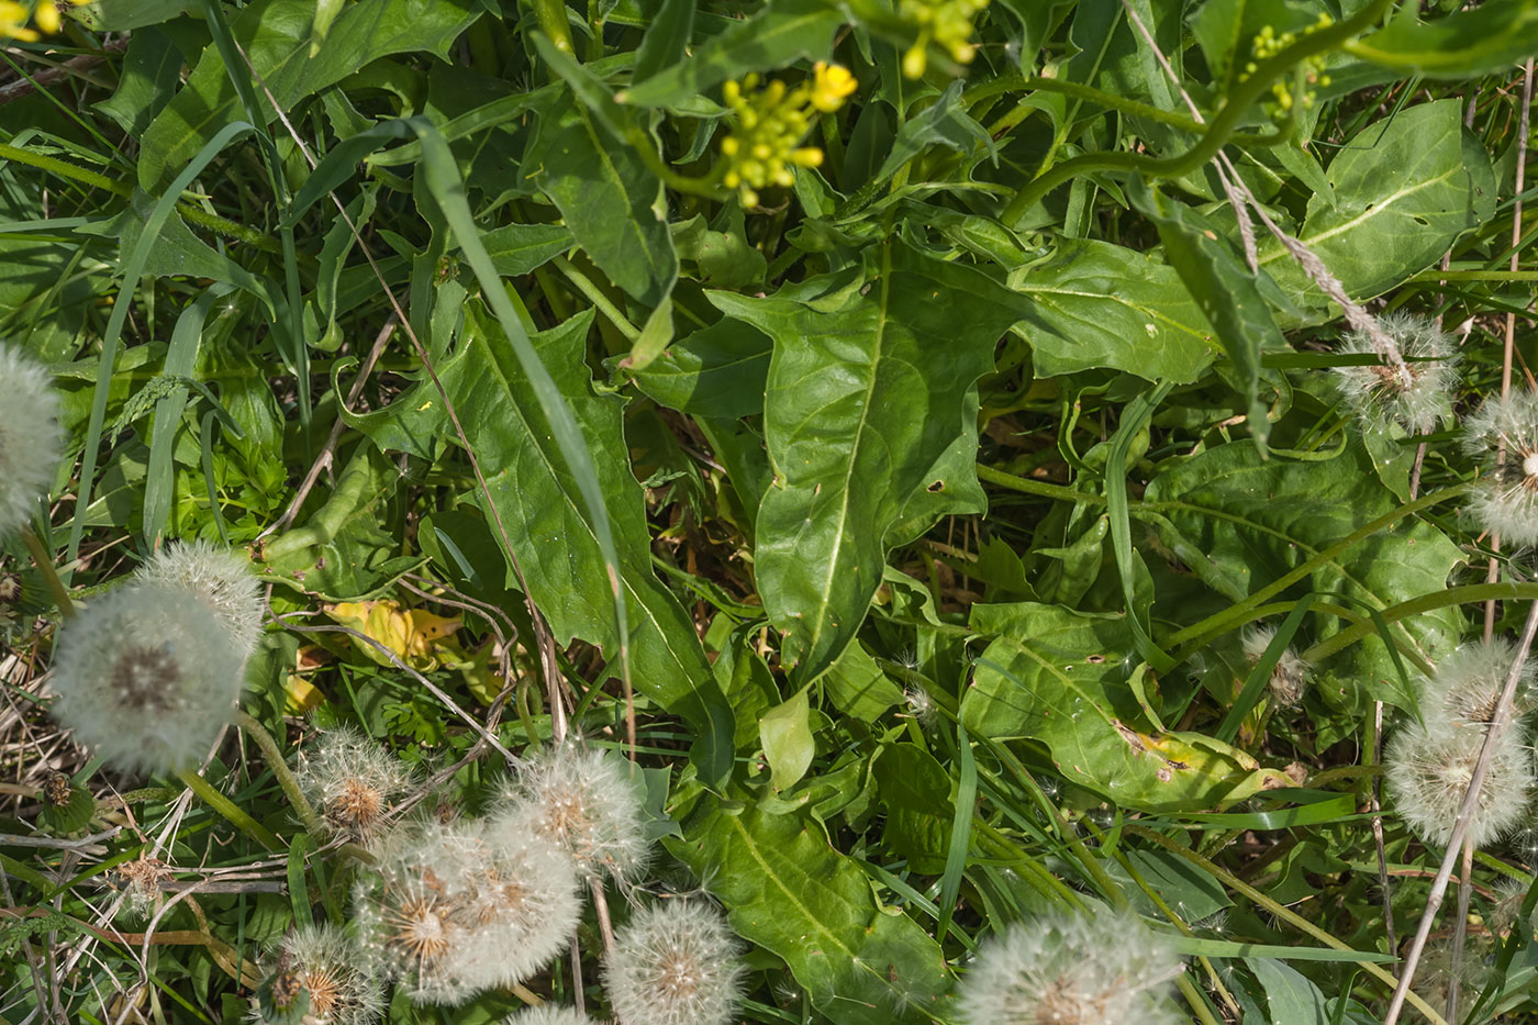
<path id="1" fill-rule="evenodd" d="M 1317 32 L 1309 32 L 1300 37 L 1295 43 L 1284 46 L 1275 57 L 1261 63 L 1261 66 L 1255 69 L 1255 74 L 1244 78 L 1233 88 L 1233 92 L 1229 94 L 1227 103 L 1224 103 L 1223 109 L 1212 119 L 1206 134 L 1203 134 L 1203 137 L 1186 152 L 1163 160 L 1132 152 L 1097 152 L 1064 160 L 1063 163 L 1054 165 L 1047 171 L 1041 172 L 1034 182 L 1015 192 L 1015 199 L 1009 202 L 998 220 L 1004 226 L 1014 225 L 1047 192 L 1064 182 L 1089 174 L 1090 171 L 1137 171 L 1150 179 L 1178 179 L 1184 174 L 1197 171 L 1229 143 L 1240 120 L 1250 109 L 1255 100 L 1258 100 L 1267 88 L 1270 88 L 1272 82 L 1287 74 L 1287 71 L 1300 62 L 1344 43 L 1352 35 L 1357 35 L 1360 31 L 1375 25 L 1378 18 L 1383 17 L 1384 11 L 1392 6 L 1392 3 L 1393 0 L 1372 0 L 1372 3 L 1358 11 L 1353 17 L 1329 28 L 1323 28 Z"/>

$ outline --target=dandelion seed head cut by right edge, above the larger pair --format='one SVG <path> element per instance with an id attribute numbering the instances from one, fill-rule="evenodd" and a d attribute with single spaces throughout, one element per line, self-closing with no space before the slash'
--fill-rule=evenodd
<path id="1" fill-rule="evenodd" d="M 1486 399 L 1464 420 L 1463 442 L 1484 469 L 1464 506 L 1469 517 L 1509 545 L 1538 545 L 1538 392 Z"/>

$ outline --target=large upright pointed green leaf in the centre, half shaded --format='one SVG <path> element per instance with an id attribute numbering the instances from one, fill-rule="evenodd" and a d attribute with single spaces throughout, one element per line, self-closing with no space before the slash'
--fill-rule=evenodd
<path id="1" fill-rule="evenodd" d="M 758 589 L 783 659 L 811 680 L 844 649 L 886 549 L 944 512 L 980 512 L 977 380 L 1017 297 L 900 243 L 874 280 L 827 300 L 711 292 L 774 339 L 764 436 L 775 482 L 758 508 Z"/>

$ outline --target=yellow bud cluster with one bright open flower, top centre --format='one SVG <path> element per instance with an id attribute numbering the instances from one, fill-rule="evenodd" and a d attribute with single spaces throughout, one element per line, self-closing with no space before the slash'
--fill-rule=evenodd
<path id="1" fill-rule="evenodd" d="M 801 146 L 818 112 L 832 114 L 855 91 L 857 82 L 847 68 L 818 62 L 812 78 L 794 89 L 775 80 L 758 88 L 758 75 L 751 74 L 721 86 L 726 106 L 732 111 L 732 132 L 721 140 L 724 172 L 721 180 L 737 189 L 743 206 L 758 206 L 758 189 L 795 185 L 794 168 L 817 168 L 823 151 Z"/>

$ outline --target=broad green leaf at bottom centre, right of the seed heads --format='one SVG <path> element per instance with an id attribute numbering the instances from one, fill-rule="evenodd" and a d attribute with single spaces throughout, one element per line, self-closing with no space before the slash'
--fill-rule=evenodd
<path id="1" fill-rule="evenodd" d="M 677 857 L 711 880 L 732 930 L 780 957 L 840 1025 L 947 1020 L 940 947 L 875 902 L 871 880 L 798 814 L 729 813 L 714 797 L 684 822 Z"/>

